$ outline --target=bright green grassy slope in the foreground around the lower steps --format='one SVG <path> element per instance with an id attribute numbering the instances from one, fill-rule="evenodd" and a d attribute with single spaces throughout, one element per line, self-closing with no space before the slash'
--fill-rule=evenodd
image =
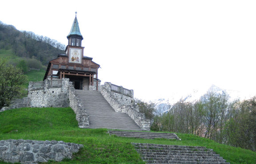
<path id="1" fill-rule="evenodd" d="M 84 145 L 72 160 L 59 163 L 144 163 L 131 142 L 206 146 L 232 164 L 256 163 L 256 152 L 218 144 L 194 135 L 177 135 L 181 141 L 115 137 L 109 136 L 107 129 L 80 129 L 71 108 L 21 108 L 0 113 L 0 140 L 57 140 Z"/>

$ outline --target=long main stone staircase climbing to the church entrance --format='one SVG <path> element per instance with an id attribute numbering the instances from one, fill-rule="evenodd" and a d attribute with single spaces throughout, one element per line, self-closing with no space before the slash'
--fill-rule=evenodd
<path id="1" fill-rule="evenodd" d="M 126 113 L 117 113 L 100 92 L 76 90 L 84 108 L 89 114 L 88 128 L 107 128 L 120 130 L 141 130 Z"/>

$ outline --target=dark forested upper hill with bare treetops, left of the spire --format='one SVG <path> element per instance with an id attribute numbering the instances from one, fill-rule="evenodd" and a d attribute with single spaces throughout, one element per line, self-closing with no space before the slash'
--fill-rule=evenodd
<path id="1" fill-rule="evenodd" d="M 19 31 L 12 25 L 0 21 L 0 50 L 11 50 L 12 54 L 24 59 L 36 59 L 45 66 L 64 53 L 65 46 L 56 40 Z"/>

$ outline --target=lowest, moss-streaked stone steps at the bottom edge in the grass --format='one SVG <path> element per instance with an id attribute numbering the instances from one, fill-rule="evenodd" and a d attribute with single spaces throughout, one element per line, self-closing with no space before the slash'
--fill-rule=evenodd
<path id="1" fill-rule="evenodd" d="M 229 164 L 212 149 L 198 146 L 132 143 L 146 163 Z"/>

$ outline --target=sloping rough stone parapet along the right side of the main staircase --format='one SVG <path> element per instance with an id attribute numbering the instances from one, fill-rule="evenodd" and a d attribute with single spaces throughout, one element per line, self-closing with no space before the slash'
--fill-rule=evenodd
<path id="1" fill-rule="evenodd" d="M 127 113 L 137 125 L 143 130 L 150 130 L 150 121 L 146 119 L 144 113 L 139 112 L 139 107 L 134 103 L 134 99 L 131 99 L 131 103 L 120 102 L 121 100 L 115 97 L 115 93 L 112 93 L 111 83 L 105 82 L 100 86 L 100 93 L 107 100 L 116 112 Z M 133 92 L 132 92 L 133 96 Z M 133 102 L 132 102 L 133 101 Z"/>

